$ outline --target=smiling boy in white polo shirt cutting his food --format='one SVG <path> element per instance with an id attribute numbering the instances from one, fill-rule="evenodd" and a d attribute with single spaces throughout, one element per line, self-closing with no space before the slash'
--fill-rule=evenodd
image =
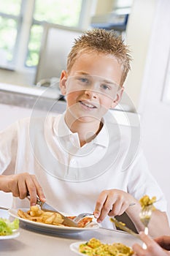
<path id="1" fill-rule="evenodd" d="M 21 120 L 2 132 L 0 189 L 20 199 L 29 192 L 31 205 L 37 194 L 68 214 L 94 211 L 104 227 L 112 225 L 108 216 L 126 211 L 137 230 L 143 229 L 138 200 L 154 195 L 161 211 L 154 211 L 150 234 L 169 233 L 161 189 L 142 152 L 128 152 L 131 127 L 118 126 L 109 112 L 120 102 L 130 61 L 112 31 L 93 29 L 75 40 L 61 73 L 66 112 Z M 14 207 L 25 203 L 15 198 Z"/>

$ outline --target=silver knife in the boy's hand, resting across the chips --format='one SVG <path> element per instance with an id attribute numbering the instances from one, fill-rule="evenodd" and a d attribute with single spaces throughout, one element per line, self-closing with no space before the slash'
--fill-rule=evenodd
<path id="1" fill-rule="evenodd" d="M 30 200 L 30 196 L 27 196 L 28 200 Z M 36 196 L 36 204 L 40 206 L 40 208 L 42 209 L 42 211 L 52 211 L 52 212 L 56 212 L 57 214 L 61 214 L 61 212 L 57 211 L 55 208 L 53 208 L 52 206 L 50 206 L 49 204 L 47 204 L 46 202 L 42 202 L 38 195 Z M 68 217 L 64 216 L 63 214 L 61 214 L 61 217 L 63 219 L 63 225 L 69 226 L 69 227 L 78 227 L 78 224 L 76 222 L 74 222 L 72 219 L 69 219 Z"/>

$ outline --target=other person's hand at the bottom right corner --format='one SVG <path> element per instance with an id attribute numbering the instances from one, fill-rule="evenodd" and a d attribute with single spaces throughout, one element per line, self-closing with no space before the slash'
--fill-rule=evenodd
<path id="1" fill-rule="evenodd" d="M 170 255 L 170 236 L 161 236 L 153 240 L 150 236 L 140 233 L 142 241 L 147 245 L 147 249 L 143 249 L 139 244 L 134 244 L 132 249 L 137 256 L 167 256 Z"/>

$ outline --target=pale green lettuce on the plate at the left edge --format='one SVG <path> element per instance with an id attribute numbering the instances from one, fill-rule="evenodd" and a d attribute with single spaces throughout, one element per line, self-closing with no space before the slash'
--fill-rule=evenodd
<path id="1" fill-rule="evenodd" d="M 13 231 L 18 230 L 19 219 L 10 222 L 9 219 L 0 218 L 0 236 L 9 236 Z"/>

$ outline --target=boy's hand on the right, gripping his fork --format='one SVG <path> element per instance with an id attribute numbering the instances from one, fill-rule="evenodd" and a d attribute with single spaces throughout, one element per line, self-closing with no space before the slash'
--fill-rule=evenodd
<path id="1" fill-rule="evenodd" d="M 107 216 L 121 215 L 128 208 L 134 197 L 119 189 L 104 190 L 98 196 L 94 217 L 98 223 L 102 222 Z"/>

